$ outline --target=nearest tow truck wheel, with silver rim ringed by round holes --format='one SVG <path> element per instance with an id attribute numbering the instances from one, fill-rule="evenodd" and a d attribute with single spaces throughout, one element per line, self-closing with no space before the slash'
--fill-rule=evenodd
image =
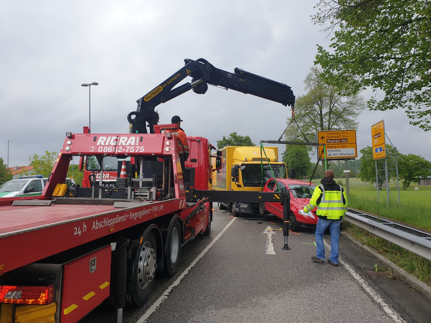
<path id="1" fill-rule="evenodd" d="M 132 294 L 133 303 L 141 307 L 150 297 L 156 275 L 157 245 L 154 233 L 150 231 L 135 251 Z"/>

